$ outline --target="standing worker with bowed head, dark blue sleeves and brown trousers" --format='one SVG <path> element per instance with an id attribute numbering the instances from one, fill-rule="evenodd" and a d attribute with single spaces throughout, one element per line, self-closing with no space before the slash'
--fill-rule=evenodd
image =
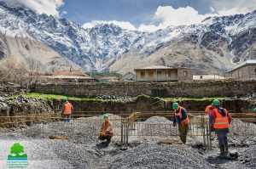
<path id="1" fill-rule="evenodd" d="M 172 109 L 174 110 L 173 126 L 175 127 L 177 122 L 179 137 L 183 144 L 185 144 L 189 130 L 189 116 L 187 114 L 187 110 L 182 106 L 179 106 L 177 103 L 172 104 Z"/>

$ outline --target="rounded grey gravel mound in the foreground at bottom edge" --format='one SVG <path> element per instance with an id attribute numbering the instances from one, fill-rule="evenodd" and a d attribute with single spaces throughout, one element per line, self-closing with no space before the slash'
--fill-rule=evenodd
<path id="1" fill-rule="evenodd" d="M 212 168 L 203 156 L 187 145 L 146 143 L 121 155 L 109 167 L 135 168 Z"/>

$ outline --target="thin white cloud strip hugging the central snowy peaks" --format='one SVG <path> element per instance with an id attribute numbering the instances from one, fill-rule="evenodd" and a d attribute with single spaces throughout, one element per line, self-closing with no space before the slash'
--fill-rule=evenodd
<path id="1" fill-rule="evenodd" d="M 118 25 L 120 28 L 122 29 L 127 29 L 127 30 L 131 30 L 131 31 L 135 31 L 136 28 L 134 25 L 131 25 L 130 22 L 119 22 L 116 20 L 112 20 L 112 21 L 106 21 L 106 20 L 92 20 L 91 22 L 87 22 L 84 25 L 82 25 L 82 27 L 86 28 L 92 28 L 95 25 L 98 24 L 113 24 L 113 25 Z"/>

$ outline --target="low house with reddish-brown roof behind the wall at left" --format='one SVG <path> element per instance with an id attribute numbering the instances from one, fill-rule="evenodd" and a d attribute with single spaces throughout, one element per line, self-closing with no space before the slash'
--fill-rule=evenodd
<path id="1" fill-rule="evenodd" d="M 58 70 L 44 76 L 52 82 L 99 82 L 80 70 Z"/>

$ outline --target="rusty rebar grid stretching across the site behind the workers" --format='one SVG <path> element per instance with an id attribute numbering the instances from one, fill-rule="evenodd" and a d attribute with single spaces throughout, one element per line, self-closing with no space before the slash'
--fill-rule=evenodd
<path id="1" fill-rule="evenodd" d="M 119 118 L 113 118 L 114 136 L 121 141 L 121 147 L 127 149 L 128 138 L 179 138 L 177 127 L 173 127 L 170 117 L 172 113 L 143 113 L 135 121 L 129 121 L 129 116 L 120 113 Z M 229 137 L 247 138 L 255 137 L 256 129 L 253 121 L 253 114 L 230 114 L 233 121 L 230 124 Z M 20 115 L 0 117 L 0 132 L 22 132 L 28 137 L 48 138 L 49 135 L 59 135 L 63 137 L 98 137 L 102 126 L 102 117 L 86 115 L 79 118 L 71 118 L 71 122 L 63 122 L 61 116 L 54 114 Z M 111 116 L 110 116 L 111 118 Z M 209 116 L 204 114 L 189 115 L 190 138 L 195 144 L 203 144 L 212 148 L 212 136 L 210 132 Z"/>

